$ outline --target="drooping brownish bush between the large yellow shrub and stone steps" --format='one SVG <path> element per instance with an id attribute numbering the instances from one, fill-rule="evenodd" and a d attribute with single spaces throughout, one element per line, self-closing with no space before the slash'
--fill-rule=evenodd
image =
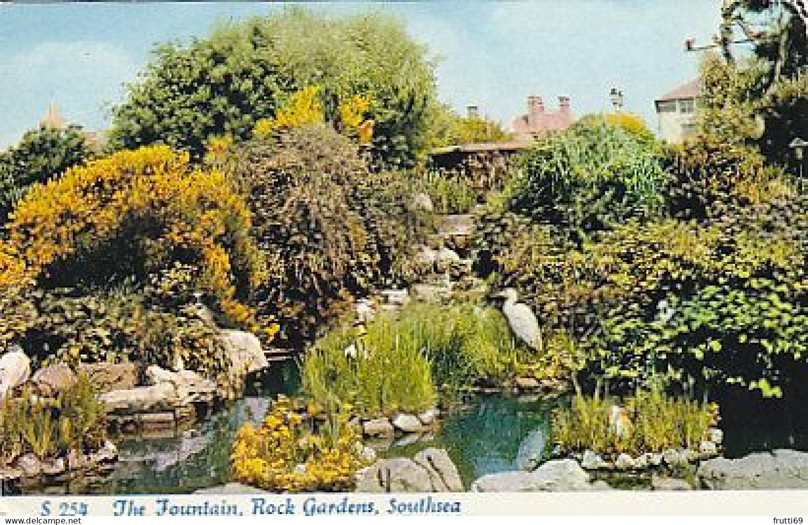
<path id="1" fill-rule="evenodd" d="M 251 141 L 236 155 L 234 183 L 269 267 L 259 313 L 280 324 L 280 341 L 300 347 L 393 271 L 406 235 L 385 198 L 389 174 L 372 173 L 356 145 L 322 124 Z"/>

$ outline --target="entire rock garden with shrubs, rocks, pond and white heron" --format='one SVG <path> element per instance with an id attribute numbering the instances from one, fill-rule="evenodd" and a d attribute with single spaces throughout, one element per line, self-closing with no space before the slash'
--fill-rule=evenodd
<path id="1" fill-rule="evenodd" d="M 723 457 L 733 399 L 806 395 L 808 197 L 749 132 L 783 97 L 739 103 L 754 71 L 709 57 L 684 145 L 588 115 L 445 170 L 478 123 L 424 53 L 284 11 L 159 48 L 106 149 L 0 153 L 3 490 L 193 456 L 208 494 L 804 488 L 802 452 Z M 162 96 L 195 82 L 209 106 Z M 136 465 L 133 436 L 183 450 Z"/>

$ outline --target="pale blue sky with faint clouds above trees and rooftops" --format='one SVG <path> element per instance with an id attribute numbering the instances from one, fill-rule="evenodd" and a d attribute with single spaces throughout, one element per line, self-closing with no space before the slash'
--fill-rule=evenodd
<path id="1" fill-rule="evenodd" d="M 284 2 L 0 3 L 0 148 L 56 103 L 69 122 L 108 125 L 157 42 L 204 36 L 221 19 Z M 440 98 L 469 104 L 503 124 L 528 94 L 555 107 L 569 95 L 576 115 L 608 108 L 608 91 L 655 126 L 653 99 L 696 75 L 683 51 L 718 27 L 719 0 L 539 0 L 533 2 L 308 2 L 313 10 L 392 11 L 440 59 Z"/>

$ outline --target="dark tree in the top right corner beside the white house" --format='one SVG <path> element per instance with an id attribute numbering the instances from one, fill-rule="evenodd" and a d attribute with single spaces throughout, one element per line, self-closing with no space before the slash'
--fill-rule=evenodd
<path id="1" fill-rule="evenodd" d="M 764 0 L 725 0 L 722 19 L 726 61 L 709 57 L 703 67 L 707 131 L 731 131 L 721 136 L 740 136 L 770 161 L 796 168 L 789 143 L 808 136 L 806 23 L 789 2 Z M 754 44 L 744 66 L 732 45 L 738 28 Z"/>

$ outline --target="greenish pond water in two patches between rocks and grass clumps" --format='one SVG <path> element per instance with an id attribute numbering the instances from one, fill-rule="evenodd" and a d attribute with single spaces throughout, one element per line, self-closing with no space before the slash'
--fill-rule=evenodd
<path id="1" fill-rule="evenodd" d="M 292 367 L 276 369 L 259 387 L 187 430 L 118 440 L 112 472 L 59 491 L 74 494 L 188 494 L 230 479 L 229 453 L 238 427 L 260 422 L 276 393 L 297 389 Z M 413 456 L 427 447 L 448 451 L 465 485 L 483 474 L 522 468 L 548 451 L 551 406 L 530 397 L 473 397 L 444 414 L 434 434 L 368 443 L 381 457 Z M 38 490 L 39 492 L 39 490 Z"/>

